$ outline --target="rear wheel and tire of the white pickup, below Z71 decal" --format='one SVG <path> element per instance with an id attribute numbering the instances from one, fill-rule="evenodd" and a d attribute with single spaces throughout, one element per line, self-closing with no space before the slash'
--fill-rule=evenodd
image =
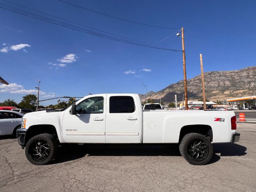
<path id="1" fill-rule="evenodd" d="M 201 134 L 186 134 L 179 148 L 180 154 L 192 165 L 204 165 L 212 159 L 212 143 Z"/>

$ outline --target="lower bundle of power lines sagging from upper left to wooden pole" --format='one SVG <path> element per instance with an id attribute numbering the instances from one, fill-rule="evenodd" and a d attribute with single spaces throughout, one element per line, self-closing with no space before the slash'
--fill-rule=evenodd
<path id="1" fill-rule="evenodd" d="M 49 23 L 52 23 L 52 24 L 55 24 L 55 25 L 63 26 L 63 27 L 66 27 L 66 28 L 70 28 L 70 29 L 73 29 L 73 30 L 76 30 L 76 31 L 92 34 L 92 35 L 95 35 L 95 36 L 100 36 L 100 37 L 103 37 L 103 38 L 108 38 L 108 39 L 111 39 L 111 40 L 116 40 L 116 41 L 125 42 L 125 43 L 128 43 L 128 44 L 134 44 L 134 45 L 144 46 L 144 47 L 149 47 L 149 48 L 156 48 L 156 49 L 169 50 L 169 51 L 181 51 L 181 50 L 174 50 L 174 49 L 164 48 L 164 47 L 155 46 L 155 45 L 149 45 L 149 44 L 146 44 L 146 43 L 143 43 L 143 42 L 138 43 L 138 42 L 122 39 L 122 38 L 116 38 L 114 36 L 109 36 L 109 35 L 106 35 L 106 34 L 102 34 L 102 33 L 94 32 L 94 31 L 87 30 L 87 29 L 84 29 L 84 28 L 80 28 L 80 27 L 70 25 L 70 24 L 67 24 L 67 23 L 64 23 L 64 22 L 60 22 L 58 20 L 54 20 L 54 19 L 51 19 L 51 18 L 40 16 L 38 14 L 27 12 L 27 11 L 21 10 L 19 8 L 14 8 L 13 6 L 9 6 L 9 5 L 2 4 L 2 3 L 0 3 L 0 8 L 5 9 L 5 10 L 9 10 L 9 11 L 12 11 L 12 12 L 16 12 L 18 14 L 22 14 L 22 15 L 25 15 L 25 16 L 29 16 L 29 17 L 32 17 L 32 18 L 35 18 L 35 19 L 38 19 L 38 20 L 42 20 L 42 21 L 45 21 L 45 22 L 49 22 Z"/>

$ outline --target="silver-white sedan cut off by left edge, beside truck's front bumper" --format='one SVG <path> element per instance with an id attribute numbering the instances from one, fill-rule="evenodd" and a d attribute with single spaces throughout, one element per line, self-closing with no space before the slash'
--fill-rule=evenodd
<path id="1" fill-rule="evenodd" d="M 24 114 L 10 110 L 0 110 L 0 135 L 16 136 Z"/>

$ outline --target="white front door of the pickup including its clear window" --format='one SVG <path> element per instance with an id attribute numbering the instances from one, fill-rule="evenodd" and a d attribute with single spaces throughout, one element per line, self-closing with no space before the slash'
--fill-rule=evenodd
<path id="1" fill-rule="evenodd" d="M 67 143 L 105 143 L 106 95 L 86 98 L 76 104 L 76 114 L 66 110 L 62 136 Z"/>

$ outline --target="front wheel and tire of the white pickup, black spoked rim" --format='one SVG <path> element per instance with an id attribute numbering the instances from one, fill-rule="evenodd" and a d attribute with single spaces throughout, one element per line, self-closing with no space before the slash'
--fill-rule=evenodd
<path id="1" fill-rule="evenodd" d="M 58 141 L 47 133 L 32 137 L 25 148 L 28 161 L 34 165 L 47 164 L 55 158 L 57 151 Z"/>

